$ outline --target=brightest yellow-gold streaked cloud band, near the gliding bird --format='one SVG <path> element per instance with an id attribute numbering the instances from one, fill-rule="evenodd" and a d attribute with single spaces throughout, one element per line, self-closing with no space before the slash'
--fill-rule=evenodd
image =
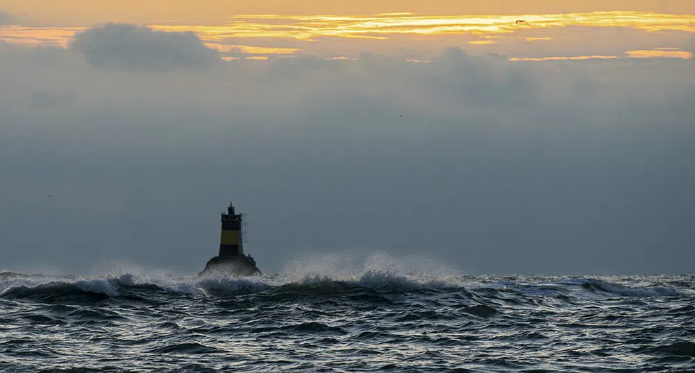
<path id="1" fill-rule="evenodd" d="M 528 26 L 516 26 L 525 19 Z M 594 12 L 550 15 L 423 16 L 389 13 L 368 16 L 238 15 L 227 26 L 154 26 L 167 31 L 196 31 L 209 38 L 386 38 L 388 35 L 509 34 L 535 28 L 569 26 L 634 28 L 648 32 L 695 33 L 695 15 Z M 203 37 L 203 36 L 202 36 Z"/>

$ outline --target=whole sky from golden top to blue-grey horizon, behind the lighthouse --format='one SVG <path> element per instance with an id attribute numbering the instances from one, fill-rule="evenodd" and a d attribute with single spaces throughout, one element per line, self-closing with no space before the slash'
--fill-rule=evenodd
<path id="1" fill-rule="evenodd" d="M 229 201 L 266 273 L 695 270 L 692 1 L 0 0 L 0 40 L 6 270 L 193 274 Z"/>

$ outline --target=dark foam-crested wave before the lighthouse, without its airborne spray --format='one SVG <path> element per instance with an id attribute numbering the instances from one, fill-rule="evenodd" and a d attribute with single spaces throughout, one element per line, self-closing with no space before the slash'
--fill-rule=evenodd
<path id="1" fill-rule="evenodd" d="M 293 282 L 283 276 L 229 277 L 162 276 L 142 279 L 134 274 L 101 277 L 56 277 L 6 274 L 0 280 L 0 297 L 31 299 L 51 303 L 59 299 L 86 297 L 105 299 L 129 297 L 138 299 L 145 293 L 175 293 L 202 297 L 248 295 L 272 290 L 326 295 L 370 289 L 379 292 L 408 292 L 446 288 L 444 283 L 418 281 L 393 273 L 368 272 L 354 279 L 332 279 L 328 276 L 307 275 Z M 454 288 L 453 286 L 450 286 Z"/>

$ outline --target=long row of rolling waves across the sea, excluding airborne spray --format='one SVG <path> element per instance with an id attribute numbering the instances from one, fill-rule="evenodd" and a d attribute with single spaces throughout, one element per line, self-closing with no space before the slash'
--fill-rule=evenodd
<path id="1" fill-rule="evenodd" d="M 157 273 L 105 274 L 101 276 L 44 276 L 16 272 L 0 273 L 0 299 L 27 299 L 42 303 L 59 301 L 101 301 L 122 297 L 133 301 L 152 301 L 167 295 L 185 297 L 230 297 L 259 294 L 266 301 L 292 301 L 299 297 L 347 296 L 368 303 L 389 302 L 393 295 L 423 292 L 449 292 L 457 299 L 477 302 L 496 299 L 509 306 L 554 298 L 572 301 L 573 297 L 679 297 L 685 293 L 659 285 L 634 287 L 602 279 L 510 278 L 500 276 L 475 279 L 471 276 L 404 273 L 383 267 L 369 267 L 353 274 L 288 272 L 270 276 L 174 276 Z M 161 300 L 165 301 L 165 300 Z M 493 313 L 471 309 L 470 313 Z"/>

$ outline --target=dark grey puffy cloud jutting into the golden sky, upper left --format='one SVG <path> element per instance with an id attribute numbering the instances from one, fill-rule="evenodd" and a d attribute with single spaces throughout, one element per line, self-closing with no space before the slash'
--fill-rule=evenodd
<path id="1" fill-rule="evenodd" d="M 106 24 L 76 33 L 70 44 L 100 68 L 163 70 L 200 69 L 220 62 L 192 32 L 154 31 L 146 26 Z"/>

